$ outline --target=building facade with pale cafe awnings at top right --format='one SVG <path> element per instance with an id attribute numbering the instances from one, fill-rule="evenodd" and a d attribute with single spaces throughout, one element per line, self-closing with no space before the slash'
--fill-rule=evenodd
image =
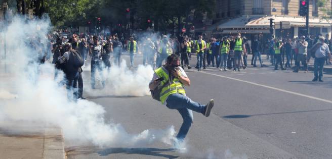
<path id="1" fill-rule="evenodd" d="M 305 17 L 299 16 L 302 0 L 217 0 L 217 22 L 210 29 L 212 34 L 269 34 L 270 21 L 274 19 L 273 34 L 283 37 L 307 35 Z M 309 2 L 309 33 L 316 36 L 331 34 L 331 22 L 322 20 L 324 12 L 318 0 Z M 331 9 L 331 0 L 323 8 Z M 220 24 L 218 24 L 220 22 Z M 281 27 L 281 29 L 280 29 Z M 330 36 L 331 37 L 331 36 Z"/>

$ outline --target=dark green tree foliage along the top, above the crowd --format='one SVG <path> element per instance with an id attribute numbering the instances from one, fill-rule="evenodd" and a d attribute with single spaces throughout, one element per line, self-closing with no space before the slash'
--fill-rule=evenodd
<path id="1" fill-rule="evenodd" d="M 31 0 L 29 0 L 31 1 Z M 146 24 L 147 19 L 159 21 L 170 27 L 175 21 L 178 25 L 186 19 L 190 11 L 195 15 L 208 13 L 211 17 L 216 0 L 45 0 L 46 12 L 56 27 L 86 25 L 96 23 L 102 18 L 103 25 L 116 25 L 126 21 L 126 9 L 130 8 L 133 21 Z"/>

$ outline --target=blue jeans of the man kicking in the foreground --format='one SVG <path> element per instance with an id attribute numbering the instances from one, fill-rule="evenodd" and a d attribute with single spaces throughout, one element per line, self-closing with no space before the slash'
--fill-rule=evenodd
<path id="1" fill-rule="evenodd" d="M 200 103 L 192 101 L 189 97 L 179 93 L 169 95 L 166 103 L 166 106 L 169 109 L 178 110 L 180 115 L 182 116 L 183 123 L 179 130 L 177 138 L 183 140 L 186 137 L 193 121 L 192 111 L 204 114 L 206 105 L 202 105 Z"/>

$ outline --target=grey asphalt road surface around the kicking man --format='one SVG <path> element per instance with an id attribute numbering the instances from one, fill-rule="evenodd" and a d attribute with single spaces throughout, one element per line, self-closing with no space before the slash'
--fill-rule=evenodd
<path id="1" fill-rule="evenodd" d="M 332 158 L 332 75 L 324 75 L 324 82 L 311 82 L 312 72 L 274 71 L 265 59 L 267 67 L 248 66 L 241 72 L 186 70 L 191 80 L 187 96 L 201 103 L 215 99 L 209 118 L 194 113 L 186 152 L 163 143 L 149 147 L 87 144 L 66 146 L 67 157 Z M 136 58 L 136 64 L 141 61 Z M 192 65 L 195 62 L 193 57 Z M 84 78 L 89 76 L 85 71 Z M 103 105 L 106 119 L 121 123 L 129 133 L 170 125 L 178 130 L 182 123 L 177 111 L 150 96 L 89 96 L 89 92 L 85 96 Z"/>

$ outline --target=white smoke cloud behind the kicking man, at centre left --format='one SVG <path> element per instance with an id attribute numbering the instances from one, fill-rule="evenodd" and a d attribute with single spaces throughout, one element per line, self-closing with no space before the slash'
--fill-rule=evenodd
<path id="1" fill-rule="evenodd" d="M 90 66 L 84 70 L 90 70 Z M 150 65 L 139 65 L 137 70 L 132 71 L 128 69 L 126 61 L 122 60 L 121 65 L 118 67 L 112 65 L 108 70 L 102 70 L 103 78 L 106 81 L 105 88 L 92 89 L 88 85 L 85 90 L 89 96 L 99 95 L 119 95 L 119 96 L 145 96 L 150 95 L 149 82 L 153 76 L 153 69 Z M 90 78 L 90 77 L 88 77 Z M 101 80 L 98 71 L 96 73 L 96 84 L 99 82 L 101 87 Z"/>

